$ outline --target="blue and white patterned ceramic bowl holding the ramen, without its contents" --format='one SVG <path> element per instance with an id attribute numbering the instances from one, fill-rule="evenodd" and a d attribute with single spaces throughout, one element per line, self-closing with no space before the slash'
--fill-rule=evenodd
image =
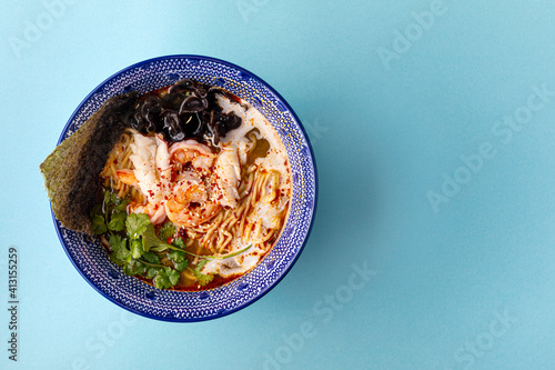
<path id="1" fill-rule="evenodd" d="M 138 314 L 165 321 L 201 321 L 235 312 L 268 293 L 293 267 L 304 248 L 316 207 L 316 168 L 306 132 L 285 100 L 262 79 L 232 63 L 200 56 L 145 60 L 113 74 L 92 91 L 71 116 L 60 141 L 71 136 L 104 101 L 128 91 L 152 91 L 190 78 L 221 87 L 249 101 L 279 132 L 291 163 L 291 211 L 273 249 L 250 272 L 215 289 L 159 290 L 125 276 L 95 239 L 54 226 L 81 276 L 102 296 Z"/>

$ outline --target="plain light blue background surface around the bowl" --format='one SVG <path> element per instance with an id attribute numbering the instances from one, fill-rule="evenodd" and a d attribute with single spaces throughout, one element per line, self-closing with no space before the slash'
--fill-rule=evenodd
<path id="1" fill-rule="evenodd" d="M 554 19 L 542 0 L 2 1 L 0 368 L 554 369 Z M 273 86 L 320 176 L 286 278 L 185 324 L 132 314 L 80 277 L 38 170 L 97 84 L 175 53 Z"/>

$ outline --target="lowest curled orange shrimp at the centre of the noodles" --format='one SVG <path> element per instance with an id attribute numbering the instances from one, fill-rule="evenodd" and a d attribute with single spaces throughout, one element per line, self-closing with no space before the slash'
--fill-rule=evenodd
<path id="1" fill-rule="evenodd" d="M 198 227 L 210 221 L 222 208 L 209 200 L 204 182 L 193 172 L 183 172 L 165 202 L 165 214 L 181 227 Z"/>

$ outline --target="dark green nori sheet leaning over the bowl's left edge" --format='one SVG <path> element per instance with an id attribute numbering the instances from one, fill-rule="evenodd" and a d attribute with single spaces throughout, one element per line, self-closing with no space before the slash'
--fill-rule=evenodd
<path id="1" fill-rule="evenodd" d="M 138 97 L 133 91 L 107 100 L 40 164 L 52 210 L 63 227 L 92 234 L 89 213 L 100 193 L 99 176 Z"/>

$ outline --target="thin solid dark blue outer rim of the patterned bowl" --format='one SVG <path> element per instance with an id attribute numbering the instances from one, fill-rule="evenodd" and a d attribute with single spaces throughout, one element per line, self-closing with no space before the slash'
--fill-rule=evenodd
<path id="1" fill-rule="evenodd" d="M 270 283 L 269 287 L 266 287 L 264 290 L 262 290 L 261 292 L 259 292 L 252 299 L 250 299 L 250 300 L 248 300 L 248 301 L 245 301 L 245 302 L 243 302 L 243 303 L 241 303 L 241 304 L 239 304 L 239 306 L 236 306 L 236 307 L 234 307 L 234 308 L 232 308 L 230 310 L 226 310 L 225 312 L 222 312 L 222 313 L 216 312 L 215 314 L 212 314 L 212 316 L 196 317 L 196 318 L 185 318 L 185 319 L 181 319 L 181 318 L 167 318 L 167 317 L 150 314 L 148 312 L 143 312 L 143 311 L 138 310 L 138 309 L 133 309 L 131 307 L 125 306 L 122 302 L 117 301 L 110 294 L 108 294 L 107 292 L 102 291 L 99 287 L 97 287 L 97 284 L 93 281 L 91 281 L 91 279 L 84 273 L 84 271 L 81 269 L 81 267 L 78 266 L 77 262 L 71 257 L 70 251 L 68 250 L 68 246 L 65 244 L 65 240 L 64 240 L 64 238 L 61 234 L 61 224 L 59 223 L 58 219 L 56 218 L 52 209 L 51 209 L 51 214 L 52 214 L 52 220 L 53 220 L 53 223 L 54 223 L 56 232 L 58 234 L 58 239 L 60 240 L 60 242 L 61 242 L 61 244 L 63 247 L 63 250 L 64 250 L 65 254 L 68 256 L 69 260 L 71 261 L 71 263 L 73 264 L 73 267 L 75 268 L 75 270 L 79 272 L 79 274 L 81 274 L 81 277 L 97 292 L 99 292 L 102 297 L 104 297 L 105 299 L 108 299 L 112 303 L 115 303 L 117 306 L 119 306 L 119 307 L 121 307 L 121 308 L 123 308 L 123 309 L 125 309 L 125 310 L 128 310 L 130 312 L 137 313 L 139 316 L 145 317 L 145 318 L 149 318 L 149 319 L 155 319 L 155 320 L 169 321 L 169 322 L 199 322 L 199 321 L 208 321 L 208 320 L 213 320 L 213 319 L 222 318 L 222 317 L 225 317 L 228 314 L 238 312 L 238 311 L 240 311 L 240 310 L 249 307 L 250 304 L 256 302 L 259 299 L 261 299 L 268 292 L 270 292 L 273 288 L 275 288 L 275 286 L 278 286 L 280 283 L 280 281 L 291 271 L 291 269 L 293 268 L 293 266 L 296 263 L 296 261 L 299 260 L 299 257 L 303 252 L 304 247 L 305 247 L 305 244 L 306 244 L 306 242 L 309 240 L 309 237 L 310 237 L 311 231 L 312 231 L 312 227 L 314 226 L 314 219 L 315 219 L 315 214 L 316 214 L 317 199 L 319 199 L 319 189 L 317 189 L 319 188 L 317 187 L 319 181 L 317 181 L 316 161 L 315 161 L 314 151 L 312 149 L 312 144 L 310 142 L 309 136 L 306 134 L 306 131 L 305 131 L 304 127 L 302 126 L 301 120 L 296 116 L 295 111 L 287 103 L 287 101 L 285 99 L 283 99 L 283 97 L 278 91 L 275 91 L 275 89 L 273 89 L 263 79 L 261 79 L 256 74 L 252 73 L 251 71 L 245 70 L 242 67 L 239 67 L 236 64 L 233 64 L 233 63 L 228 62 L 228 61 L 222 60 L 222 59 L 216 59 L 216 58 L 205 57 L 205 56 L 199 56 L 199 54 L 170 54 L 170 56 L 151 58 L 151 59 L 147 59 L 147 60 L 137 62 L 134 64 L 131 64 L 129 67 L 125 67 L 124 69 L 122 69 L 122 70 L 113 73 L 112 76 L 110 76 L 109 78 L 107 78 L 104 81 L 102 81 L 101 83 L 99 83 L 94 89 L 92 89 L 91 92 L 79 103 L 79 106 L 75 108 L 75 110 L 73 111 L 73 113 L 69 118 L 68 123 L 65 123 L 65 126 L 64 126 L 64 128 L 63 128 L 63 130 L 62 130 L 62 132 L 60 134 L 60 138 L 58 139 L 58 143 L 57 144 L 60 144 L 63 141 L 63 138 L 67 134 L 67 132 L 68 132 L 71 123 L 73 122 L 75 116 L 78 114 L 78 112 L 89 101 L 89 99 L 91 99 L 91 97 L 93 97 L 94 93 L 97 93 L 97 91 L 101 87 L 105 86 L 108 82 L 110 82 L 111 80 L 118 78 L 120 74 L 122 74 L 122 73 L 124 73 L 127 71 L 133 70 L 135 68 L 140 68 L 140 67 L 145 66 L 145 64 L 150 64 L 150 63 L 153 63 L 153 62 L 168 60 L 168 59 L 198 59 L 198 60 L 211 61 L 211 62 L 220 63 L 220 64 L 226 66 L 229 68 L 235 69 L 235 70 L 244 73 L 245 76 L 249 76 L 250 78 L 252 78 L 252 79 L 256 80 L 258 82 L 260 82 L 261 84 L 263 84 L 264 88 L 266 88 L 278 99 L 278 101 L 280 101 L 281 103 L 283 103 L 283 106 L 286 108 L 286 110 L 293 117 L 293 120 L 294 120 L 297 129 L 301 130 L 301 132 L 303 134 L 303 139 L 304 139 L 304 141 L 306 143 L 306 147 L 309 148 L 309 151 L 310 151 L 310 154 L 311 154 L 311 162 L 312 162 L 313 171 L 314 171 L 314 180 L 313 180 L 314 181 L 314 200 L 312 202 L 310 226 L 306 229 L 306 233 L 304 236 L 304 240 L 302 241 L 301 246 L 299 247 L 299 251 L 295 253 L 295 256 L 292 259 L 292 261 L 289 264 L 289 267 L 286 267 L 283 270 L 283 272 L 281 273 L 281 276 L 279 278 L 276 278 L 272 283 Z M 184 292 L 184 293 L 186 293 L 186 292 Z"/>

